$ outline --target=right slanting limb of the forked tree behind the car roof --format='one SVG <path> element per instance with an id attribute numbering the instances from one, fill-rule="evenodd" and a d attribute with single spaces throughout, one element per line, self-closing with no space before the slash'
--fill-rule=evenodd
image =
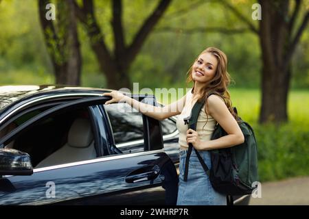
<path id="1" fill-rule="evenodd" d="M 168 5 L 170 5 L 171 1 L 172 0 L 161 0 L 154 12 L 152 12 L 152 14 L 144 22 L 144 25 L 142 25 L 141 29 L 139 29 L 133 39 L 132 44 L 128 47 L 127 63 L 133 62 L 147 36 L 150 34 L 150 31 L 152 31 L 155 27 L 165 10 L 168 8 Z"/>

